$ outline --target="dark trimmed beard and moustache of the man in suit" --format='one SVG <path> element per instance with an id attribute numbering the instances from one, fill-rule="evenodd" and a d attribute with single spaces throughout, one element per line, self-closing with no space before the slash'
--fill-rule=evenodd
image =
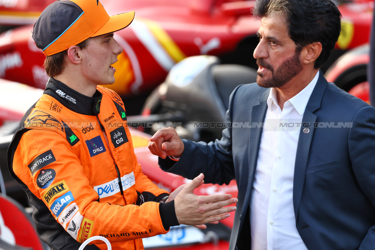
<path id="1" fill-rule="evenodd" d="M 298 73 L 302 71 L 302 64 L 299 54 L 300 53 L 295 52 L 292 57 L 282 62 L 282 64 L 278 68 L 276 68 L 276 71 L 270 64 L 264 62 L 263 58 L 258 58 L 258 66 L 267 68 L 272 73 L 271 78 L 264 79 L 264 74 L 258 72 L 258 85 L 264 88 L 280 88 L 284 86 L 285 83 L 289 82 L 293 77 L 295 77 Z"/>

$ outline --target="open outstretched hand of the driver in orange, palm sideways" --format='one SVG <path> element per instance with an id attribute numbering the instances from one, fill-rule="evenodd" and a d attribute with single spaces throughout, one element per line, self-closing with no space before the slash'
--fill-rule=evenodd
<path id="1" fill-rule="evenodd" d="M 236 210 L 235 206 L 225 207 L 237 202 L 232 195 L 197 196 L 194 189 L 203 184 L 203 174 L 195 177 L 192 182 L 182 188 L 174 198 L 174 209 L 178 223 L 185 225 L 199 225 L 204 229 L 205 223 L 217 223 L 229 217 L 229 212 Z"/>

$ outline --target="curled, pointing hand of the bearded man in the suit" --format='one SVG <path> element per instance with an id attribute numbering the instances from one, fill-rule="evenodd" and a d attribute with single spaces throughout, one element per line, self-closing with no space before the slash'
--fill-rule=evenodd
<path id="1" fill-rule="evenodd" d="M 181 157 L 184 144 L 172 127 L 159 129 L 150 139 L 148 149 L 154 155 L 165 159 L 166 156 Z"/>

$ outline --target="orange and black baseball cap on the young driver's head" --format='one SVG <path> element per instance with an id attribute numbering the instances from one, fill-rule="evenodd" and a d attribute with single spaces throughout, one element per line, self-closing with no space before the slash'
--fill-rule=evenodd
<path id="1" fill-rule="evenodd" d="M 134 12 L 109 16 L 99 0 L 58 0 L 40 14 L 33 39 L 45 55 L 53 55 L 89 37 L 127 27 Z"/>

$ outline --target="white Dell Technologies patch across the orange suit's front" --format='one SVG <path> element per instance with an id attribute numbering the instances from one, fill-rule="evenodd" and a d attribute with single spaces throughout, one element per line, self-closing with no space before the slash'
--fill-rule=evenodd
<path id="1" fill-rule="evenodd" d="M 120 179 L 121 179 L 121 186 L 124 191 L 135 184 L 135 176 L 133 172 L 130 174 L 124 175 Z M 118 178 L 111 180 L 110 182 L 104 183 L 102 185 L 95 186 L 94 190 L 98 193 L 99 198 L 112 196 L 120 192 L 120 186 L 118 185 Z"/>

